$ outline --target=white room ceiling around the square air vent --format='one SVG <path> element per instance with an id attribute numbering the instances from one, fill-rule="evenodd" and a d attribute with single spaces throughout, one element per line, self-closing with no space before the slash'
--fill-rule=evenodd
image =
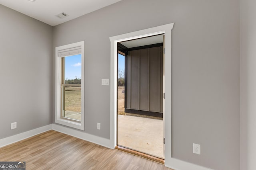
<path id="1" fill-rule="evenodd" d="M 21 12 L 39 21 L 55 26 L 84 14 L 88 14 L 121 0 L 0 0 L 0 4 Z M 69 16 L 63 19 L 56 17 L 65 12 Z"/>

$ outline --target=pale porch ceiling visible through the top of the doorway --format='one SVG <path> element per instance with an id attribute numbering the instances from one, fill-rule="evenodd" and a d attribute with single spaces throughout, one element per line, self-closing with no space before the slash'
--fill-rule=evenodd
<path id="1" fill-rule="evenodd" d="M 164 42 L 164 35 L 161 34 L 161 35 L 155 35 L 152 37 L 124 41 L 124 42 L 121 42 L 121 44 L 127 48 L 132 48 L 132 47 L 140 47 L 144 45 L 151 45 L 151 44 L 157 44 L 157 43 L 163 43 L 163 42 Z"/>

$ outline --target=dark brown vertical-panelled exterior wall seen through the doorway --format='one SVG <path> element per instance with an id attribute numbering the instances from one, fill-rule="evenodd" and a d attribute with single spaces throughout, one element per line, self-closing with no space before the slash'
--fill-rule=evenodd
<path id="1" fill-rule="evenodd" d="M 162 112 L 162 47 L 129 51 L 126 108 Z"/>

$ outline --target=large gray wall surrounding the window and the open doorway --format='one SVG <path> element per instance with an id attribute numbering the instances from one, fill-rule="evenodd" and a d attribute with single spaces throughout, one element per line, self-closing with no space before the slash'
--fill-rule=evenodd
<path id="1" fill-rule="evenodd" d="M 85 132 L 110 138 L 110 86 L 101 86 L 110 78 L 109 37 L 174 22 L 172 156 L 238 170 L 239 15 L 239 0 L 122 0 L 55 26 L 53 47 L 85 40 Z"/>

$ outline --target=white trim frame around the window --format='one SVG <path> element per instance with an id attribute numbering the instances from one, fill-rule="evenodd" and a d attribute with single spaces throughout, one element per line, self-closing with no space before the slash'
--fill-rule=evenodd
<path id="1" fill-rule="evenodd" d="M 58 57 L 58 51 L 81 46 L 81 122 L 61 118 L 61 57 Z M 55 48 L 55 123 L 66 125 L 76 129 L 84 130 L 84 41 L 62 45 Z"/>

